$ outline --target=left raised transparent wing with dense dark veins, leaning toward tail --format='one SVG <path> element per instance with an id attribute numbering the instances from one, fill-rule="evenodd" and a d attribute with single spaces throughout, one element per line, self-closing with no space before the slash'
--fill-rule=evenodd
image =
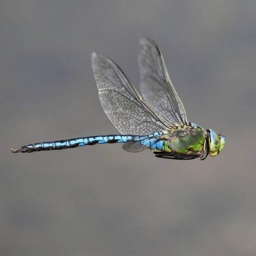
<path id="1" fill-rule="evenodd" d="M 168 128 L 168 123 L 141 98 L 111 60 L 92 53 L 92 68 L 100 103 L 117 131 L 148 135 Z"/>

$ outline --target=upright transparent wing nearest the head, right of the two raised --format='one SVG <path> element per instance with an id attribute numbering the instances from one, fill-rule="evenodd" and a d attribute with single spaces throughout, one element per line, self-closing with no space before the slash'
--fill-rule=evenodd
<path id="1" fill-rule="evenodd" d="M 168 76 L 166 65 L 155 42 L 139 42 L 140 89 L 143 98 L 173 124 L 186 124 L 186 112 Z"/>

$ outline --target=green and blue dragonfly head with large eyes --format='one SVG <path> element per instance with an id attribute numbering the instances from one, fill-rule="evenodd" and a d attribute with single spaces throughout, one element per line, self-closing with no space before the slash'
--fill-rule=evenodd
<path id="1" fill-rule="evenodd" d="M 208 135 L 208 153 L 210 156 L 216 156 L 225 146 L 226 137 L 218 135 L 212 129 L 207 129 Z"/>

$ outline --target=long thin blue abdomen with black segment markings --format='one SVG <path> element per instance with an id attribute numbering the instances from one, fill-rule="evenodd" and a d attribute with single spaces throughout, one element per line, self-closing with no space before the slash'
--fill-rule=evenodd
<path id="1" fill-rule="evenodd" d="M 66 148 L 76 148 L 85 145 L 96 145 L 105 143 L 125 143 L 127 141 L 138 141 L 146 139 L 148 136 L 134 136 L 134 135 L 105 135 L 105 136 L 91 136 L 91 137 L 80 137 L 69 140 L 56 140 L 56 141 L 45 141 L 40 143 L 27 144 L 21 148 L 13 148 L 13 153 L 31 153 L 36 151 L 48 151 L 48 150 L 59 150 Z M 142 143 L 142 141 L 141 141 Z"/>

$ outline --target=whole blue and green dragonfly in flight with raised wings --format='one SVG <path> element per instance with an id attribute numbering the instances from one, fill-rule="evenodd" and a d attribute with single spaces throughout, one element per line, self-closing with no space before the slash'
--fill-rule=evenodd
<path id="1" fill-rule="evenodd" d="M 109 58 L 92 53 L 101 106 L 119 135 L 78 137 L 12 148 L 13 153 L 123 143 L 128 152 L 150 149 L 156 157 L 206 159 L 222 151 L 226 137 L 187 121 L 182 101 L 169 78 L 162 53 L 149 38 L 139 41 L 140 93 Z"/>

